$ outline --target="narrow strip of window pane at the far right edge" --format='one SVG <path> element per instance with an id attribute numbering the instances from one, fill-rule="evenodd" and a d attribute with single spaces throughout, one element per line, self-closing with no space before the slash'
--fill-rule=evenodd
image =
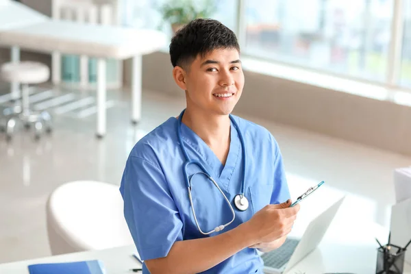
<path id="1" fill-rule="evenodd" d="M 401 60 L 401 86 L 411 88 L 411 0 L 404 1 L 404 29 Z"/>

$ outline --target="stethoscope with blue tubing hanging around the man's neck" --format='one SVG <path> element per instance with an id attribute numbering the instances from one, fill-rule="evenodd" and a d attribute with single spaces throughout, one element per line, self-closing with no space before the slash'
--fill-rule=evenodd
<path id="1" fill-rule="evenodd" d="M 234 219 L 236 219 L 236 213 L 234 212 L 234 209 L 233 209 L 231 203 L 229 202 L 229 200 L 227 199 L 227 196 L 225 196 L 223 190 L 221 190 L 219 185 L 214 181 L 214 179 L 212 179 L 210 173 L 208 173 L 207 169 L 203 166 L 203 164 L 201 164 L 201 162 L 199 162 L 197 160 L 191 160 L 190 157 L 188 157 L 188 153 L 186 151 L 186 148 L 184 147 L 184 143 L 183 143 L 183 140 L 182 140 L 182 129 L 181 129 L 182 118 L 183 118 L 184 111 L 185 110 L 183 110 L 182 113 L 179 115 L 178 123 L 177 123 L 177 138 L 178 138 L 178 141 L 179 141 L 179 145 L 182 148 L 184 157 L 186 158 L 186 162 L 183 164 L 184 181 L 186 182 L 186 185 L 187 185 L 187 188 L 188 188 L 188 198 L 190 199 L 190 205 L 191 205 L 192 214 L 194 215 L 195 224 L 197 225 L 197 228 L 199 229 L 199 232 L 201 232 L 201 234 L 208 235 L 208 234 L 212 234 L 213 232 L 219 232 L 219 231 L 223 230 L 225 227 L 227 227 L 228 225 L 230 225 L 234 221 Z M 244 189 L 245 189 L 245 145 L 244 145 L 244 139 L 242 138 L 242 134 L 240 132 L 240 129 L 239 129 L 236 121 L 234 121 L 234 118 L 232 117 L 231 114 L 229 115 L 229 119 L 232 121 L 234 127 L 236 127 L 236 130 L 238 132 L 238 136 L 240 137 L 240 142 L 241 142 L 241 147 L 242 147 L 242 167 L 243 168 L 242 168 L 241 192 L 240 192 L 240 194 L 236 195 L 236 197 L 234 197 L 234 205 L 236 206 L 236 208 L 238 210 L 245 211 L 245 210 L 247 210 L 247 208 L 249 208 L 249 202 L 248 202 L 247 198 L 244 196 Z M 188 173 L 187 173 L 187 166 L 189 164 L 197 164 L 197 166 L 199 166 L 201 171 L 203 171 L 203 172 L 195 173 L 191 176 L 191 178 L 189 178 Z M 229 208 L 230 208 L 230 210 L 232 211 L 232 214 L 233 214 L 233 218 L 232 218 L 231 221 L 229 221 L 229 223 L 226 223 L 225 225 L 219 225 L 218 227 L 214 228 L 210 232 L 203 232 L 201 230 L 201 228 L 199 226 L 199 222 L 197 221 L 197 216 L 195 215 L 194 205 L 192 204 L 192 196 L 191 196 L 192 184 L 191 184 L 191 180 L 197 174 L 206 175 L 206 177 L 208 177 L 208 179 L 210 179 L 210 181 L 214 184 L 214 186 L 216 186 L 216 188 L 219 189 L 219 191 L 223 195 L 225 201 L 227 201 L 227 204 L 228 204 L 228 206 L 229 206 Z"/>

